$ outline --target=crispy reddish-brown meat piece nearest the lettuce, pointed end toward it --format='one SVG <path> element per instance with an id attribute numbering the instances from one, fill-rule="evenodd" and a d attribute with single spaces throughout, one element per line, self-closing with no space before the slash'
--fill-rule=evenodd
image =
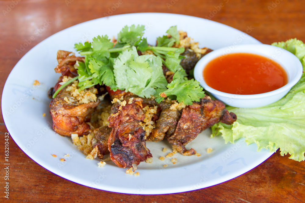
<path id="1" fill-rule="evenodd" d="M 229 113 L 225 109 L 224 103 L 205 96 L 199 102 L 193 102 L 192 105 L 186 106 L 182 110 L 175 132 L 167 140 L 173 149 L 190 156 L 196 151 L 195 149 L 185 149 L 185 145 L 195 139 L 200 132 L 220 121 L 232 124 L 236 118 L 234 113 Z"/>

